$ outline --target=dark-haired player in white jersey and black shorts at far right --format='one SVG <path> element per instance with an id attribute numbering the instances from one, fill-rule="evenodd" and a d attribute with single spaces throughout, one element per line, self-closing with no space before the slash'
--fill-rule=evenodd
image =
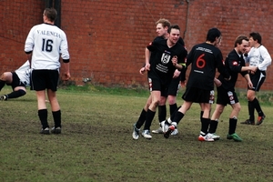
<path id="1" fill-rule="evenodd" d="M 256 125 L 262 124 L 266 117 L 255 94 L 259 91 L 266 79 L 267 67 L 271 65 L 272 59 L 268 53 L 268 49 L 261 44 L 261 40 L 261 35 L 259 35 L 257 32 L 252 32 L 249 34 L 251 49 L 247 56 L 247 62 L 249 63 L 249 66 L 256 66 L 257 70 L 250 72 L 249 75 L 253 84 L 253 87 L 248 87 L 247 93 L 249 118 L 246 121 L 241 122 L 241 124 L 255 125 L 255 109 L 258 112 Z"/>

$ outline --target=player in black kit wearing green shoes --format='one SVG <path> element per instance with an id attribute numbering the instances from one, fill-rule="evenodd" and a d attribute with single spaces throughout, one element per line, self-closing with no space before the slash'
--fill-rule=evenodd
<path id="1" fill-rule="evenodd" d="M 225 106 L 230 105 L 232 111 L 229 115 L 229 129 L 227 139 L 233 139 L 234 141 L 241 142 L 242 139 L 236 134 L 236 127 L 238 122 L 238 113 L 241 106 L 238 101 L 238 96 L 235 92 L 235 84 L 238 80 L 238 73 L 245 77 L 248 82 L 248 87 L 251 88 L 252 82 L 248 75 L 248 71 L 255 71 L 256 66 L 246 66 L 243 54 L 248 47 L 248 36 L 239 35 L 234 44 L 234 49 L 227 55 L 225 60 L 225 66 L 231 79 L 227 81 L 224 76 L 219 75 L 218 80 L 222 83 L 221 86 L 217 86 L 217 106 L 211 116 L 211 123 L 208 129 L 207 135 L 215 135 L 217 130 L 218 119 L 224 111 Z M 219 139 L 219 136 L 215 136 L 214 139 Z"/>

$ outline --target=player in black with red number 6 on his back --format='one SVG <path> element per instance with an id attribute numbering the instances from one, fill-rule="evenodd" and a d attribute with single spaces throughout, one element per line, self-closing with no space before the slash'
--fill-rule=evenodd
<path id="1" fill-rule="evenodd" d="M 168 137 L 169 133 L 177 127 L 190 106 L 193 103 L 199 103 L 203 107 L 204 113 L 201 118 L 201 131 L 198 140 L 214 141 L 213 138 L 207 136 L 207 128 L 210 123 L 209 112 L 211 104 L 214 102 L 216 68 L 224 79 L 230 79 L 230 75 L 222 62 L 222 53 L 217 48 L 217 44 L 220 41 L 221 32 L 217 28 L 211 28 L 207 32 L 206 42 L 194 45 L 187 55 L 187 66 L 191 64 L 191 70 L 186 91 L 182 96 L 184 103 L 174 115 L 161 123 L 166 133 L 165 137 Z"/>

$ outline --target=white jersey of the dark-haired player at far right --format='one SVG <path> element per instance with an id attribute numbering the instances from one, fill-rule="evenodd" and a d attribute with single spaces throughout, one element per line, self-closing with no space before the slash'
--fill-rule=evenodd
<path id="1" fill-rule="evenodd" d="M 268 53 L 268 49 L 264 45 L 251 47 L 246 62 L 249 62 L 249 66 L 258 66 L 258 70 L 267 71 L 267 67 L 271 65 L 271 56 Z"/>

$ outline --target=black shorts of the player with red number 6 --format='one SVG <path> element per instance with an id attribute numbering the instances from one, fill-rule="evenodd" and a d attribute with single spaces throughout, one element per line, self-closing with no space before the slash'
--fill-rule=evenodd
<path id="1" fill-rule="evenodd" d="M 182 98 L 187 102 L 214 103 L 214 90 L 204 90 L 196 87 L 187 87 Z"/>

